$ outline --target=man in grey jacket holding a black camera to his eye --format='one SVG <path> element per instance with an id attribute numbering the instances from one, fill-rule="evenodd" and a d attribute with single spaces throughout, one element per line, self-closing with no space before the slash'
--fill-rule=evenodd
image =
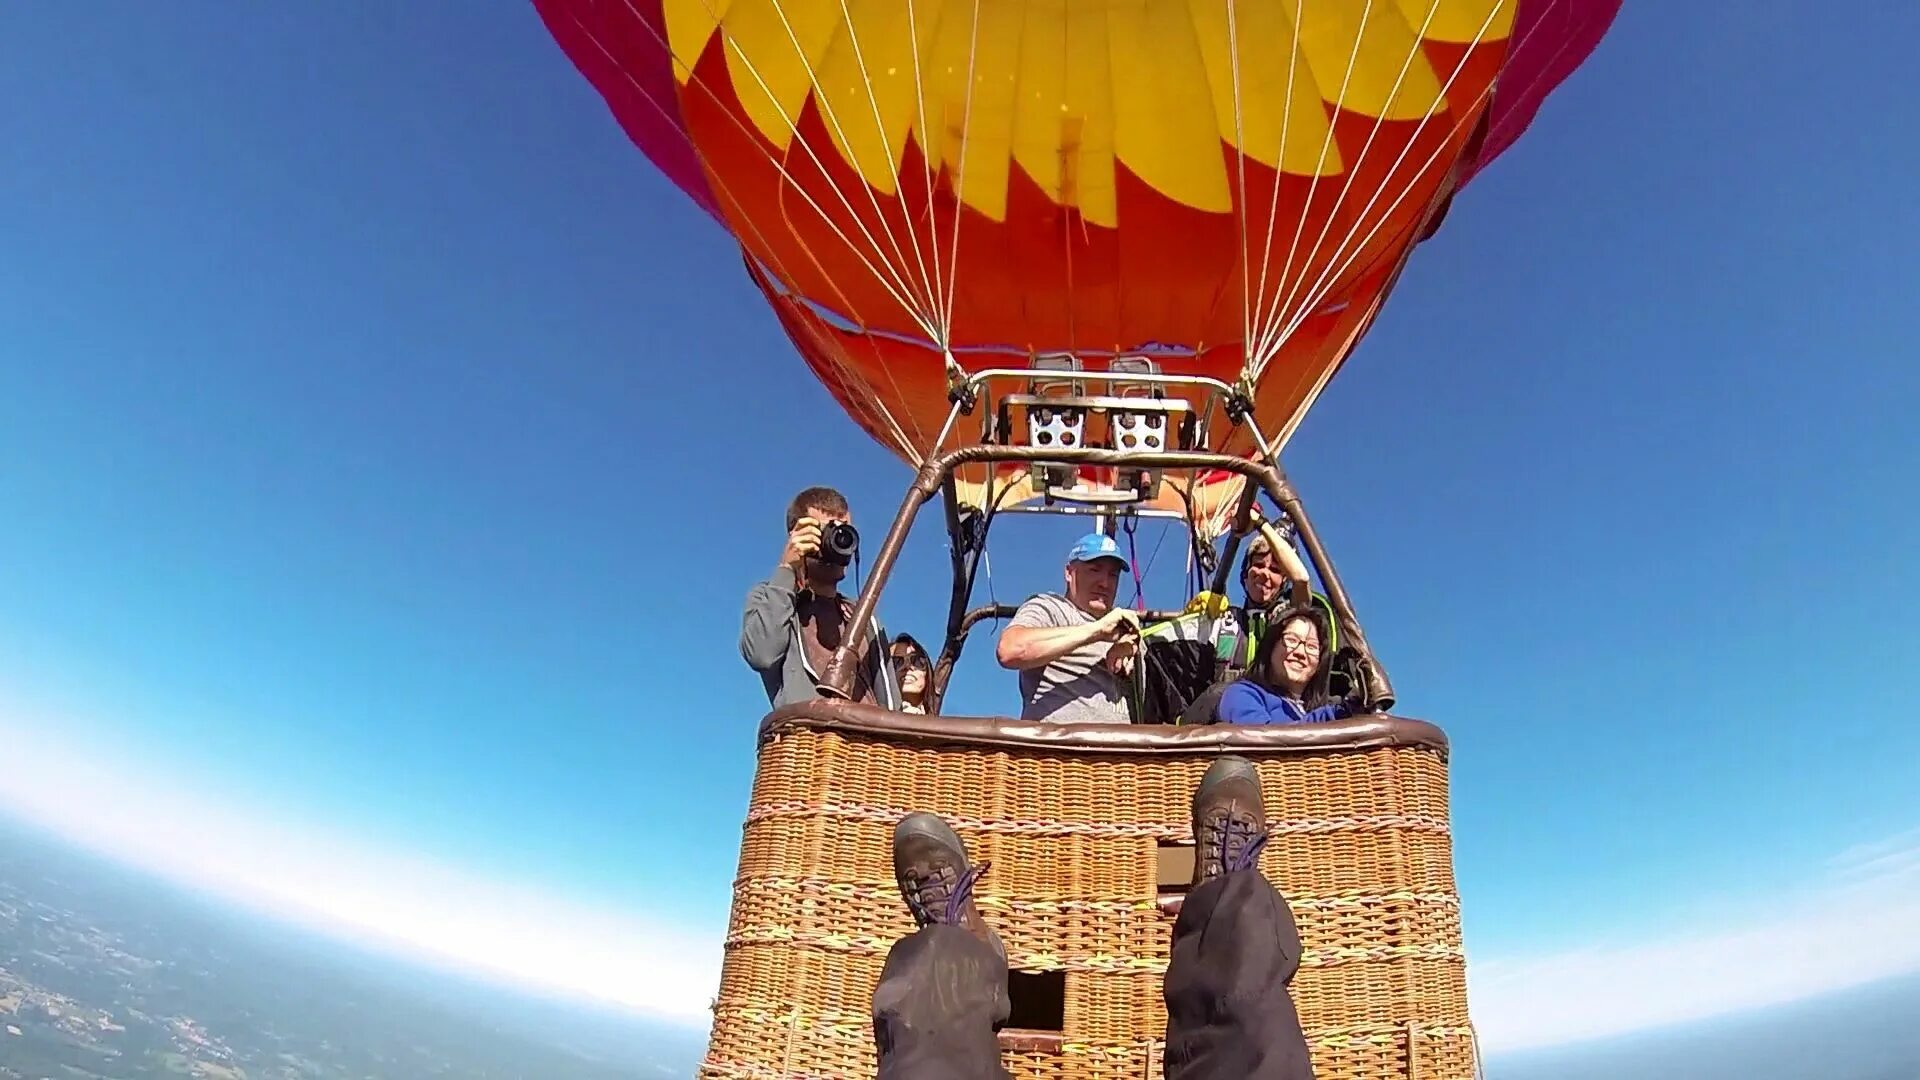
<path id="1" fill-rule="evenodd" d="M 847 496 L 837 490 L 806 488 L 787 503 L 787 546 L 772 577 L 747 594 L 739 630 L 739 655 L 760 673 L 776 709 L 814 698 L 833 651 L 852 636 L 852 601 L 839 582 L 858 546 Z M 899 696 L 883 644 L 876 619 L 851 700 L 891 709 Z"/>

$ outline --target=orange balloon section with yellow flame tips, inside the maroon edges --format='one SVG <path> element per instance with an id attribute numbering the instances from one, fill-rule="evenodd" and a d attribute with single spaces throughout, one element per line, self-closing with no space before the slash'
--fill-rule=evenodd
<path id="1" fill-rule="evenodd" d="M 1444 194 L 1511 25 L 1501 0 L 662 10 L 720 211 L 787 290 L 1016 352 L 1208 350 L 1350 302 Z"/>

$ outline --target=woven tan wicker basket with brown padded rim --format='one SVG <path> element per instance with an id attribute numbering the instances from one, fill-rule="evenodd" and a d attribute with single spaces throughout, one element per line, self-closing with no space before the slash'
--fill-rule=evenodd
<path id="1" fill-rule="evenodd" d="M 1064 726 L 810 701 L 762 726 L 703 1080 L 874 1076 L 872 995 L 912 932 L 893 822 L 943 815 L 1018 972 L 1021 1080 L 1162 1074 L 1162 976 L 1192 867 L 1192 790 L 1260 765 L 1261 871 L 1306 949 L 1292 984 L 1319 1080 L 1469 1080 L 1446 738 L 1365 717 L 1311 726 Z M 1058 974 L 1056 974 L 1058 972 Z M 1023 994 L 1033 1001 L 1023 1003 Z"/>

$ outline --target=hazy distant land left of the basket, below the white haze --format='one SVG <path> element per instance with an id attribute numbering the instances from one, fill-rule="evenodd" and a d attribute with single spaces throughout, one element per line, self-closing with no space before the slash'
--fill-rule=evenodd
<path id="1" fill-rule="evenodd" d="M 0 821 L 0 1080 L 659 1080 L 699 1038 L 180 894 Z"/>

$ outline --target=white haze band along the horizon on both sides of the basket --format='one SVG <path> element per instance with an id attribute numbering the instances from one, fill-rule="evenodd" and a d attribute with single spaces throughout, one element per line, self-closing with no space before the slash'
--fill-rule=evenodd
<path id="1" fill-rule="evenodd" d="M 50 728 L 29 732 L 10 719 L 0 715 L 13 759 L 0 774 L 0 807 L 84 851 L 430 969 L 689 1032 L 712 1026 L 724 922 L 714 932 L 595 909 L 424 851 L 276 821 L 269 807 L 157 788 L 150 769 L 36 740 Z M 111 798 L 77 813 L 81 790 Z M 1920 972 L 1920 828 L 1853 842 L 1807 882 L 1743 922 L 1471 959 L 1480 1043 L 1515 1053 L 1601 1042 Z"/>

